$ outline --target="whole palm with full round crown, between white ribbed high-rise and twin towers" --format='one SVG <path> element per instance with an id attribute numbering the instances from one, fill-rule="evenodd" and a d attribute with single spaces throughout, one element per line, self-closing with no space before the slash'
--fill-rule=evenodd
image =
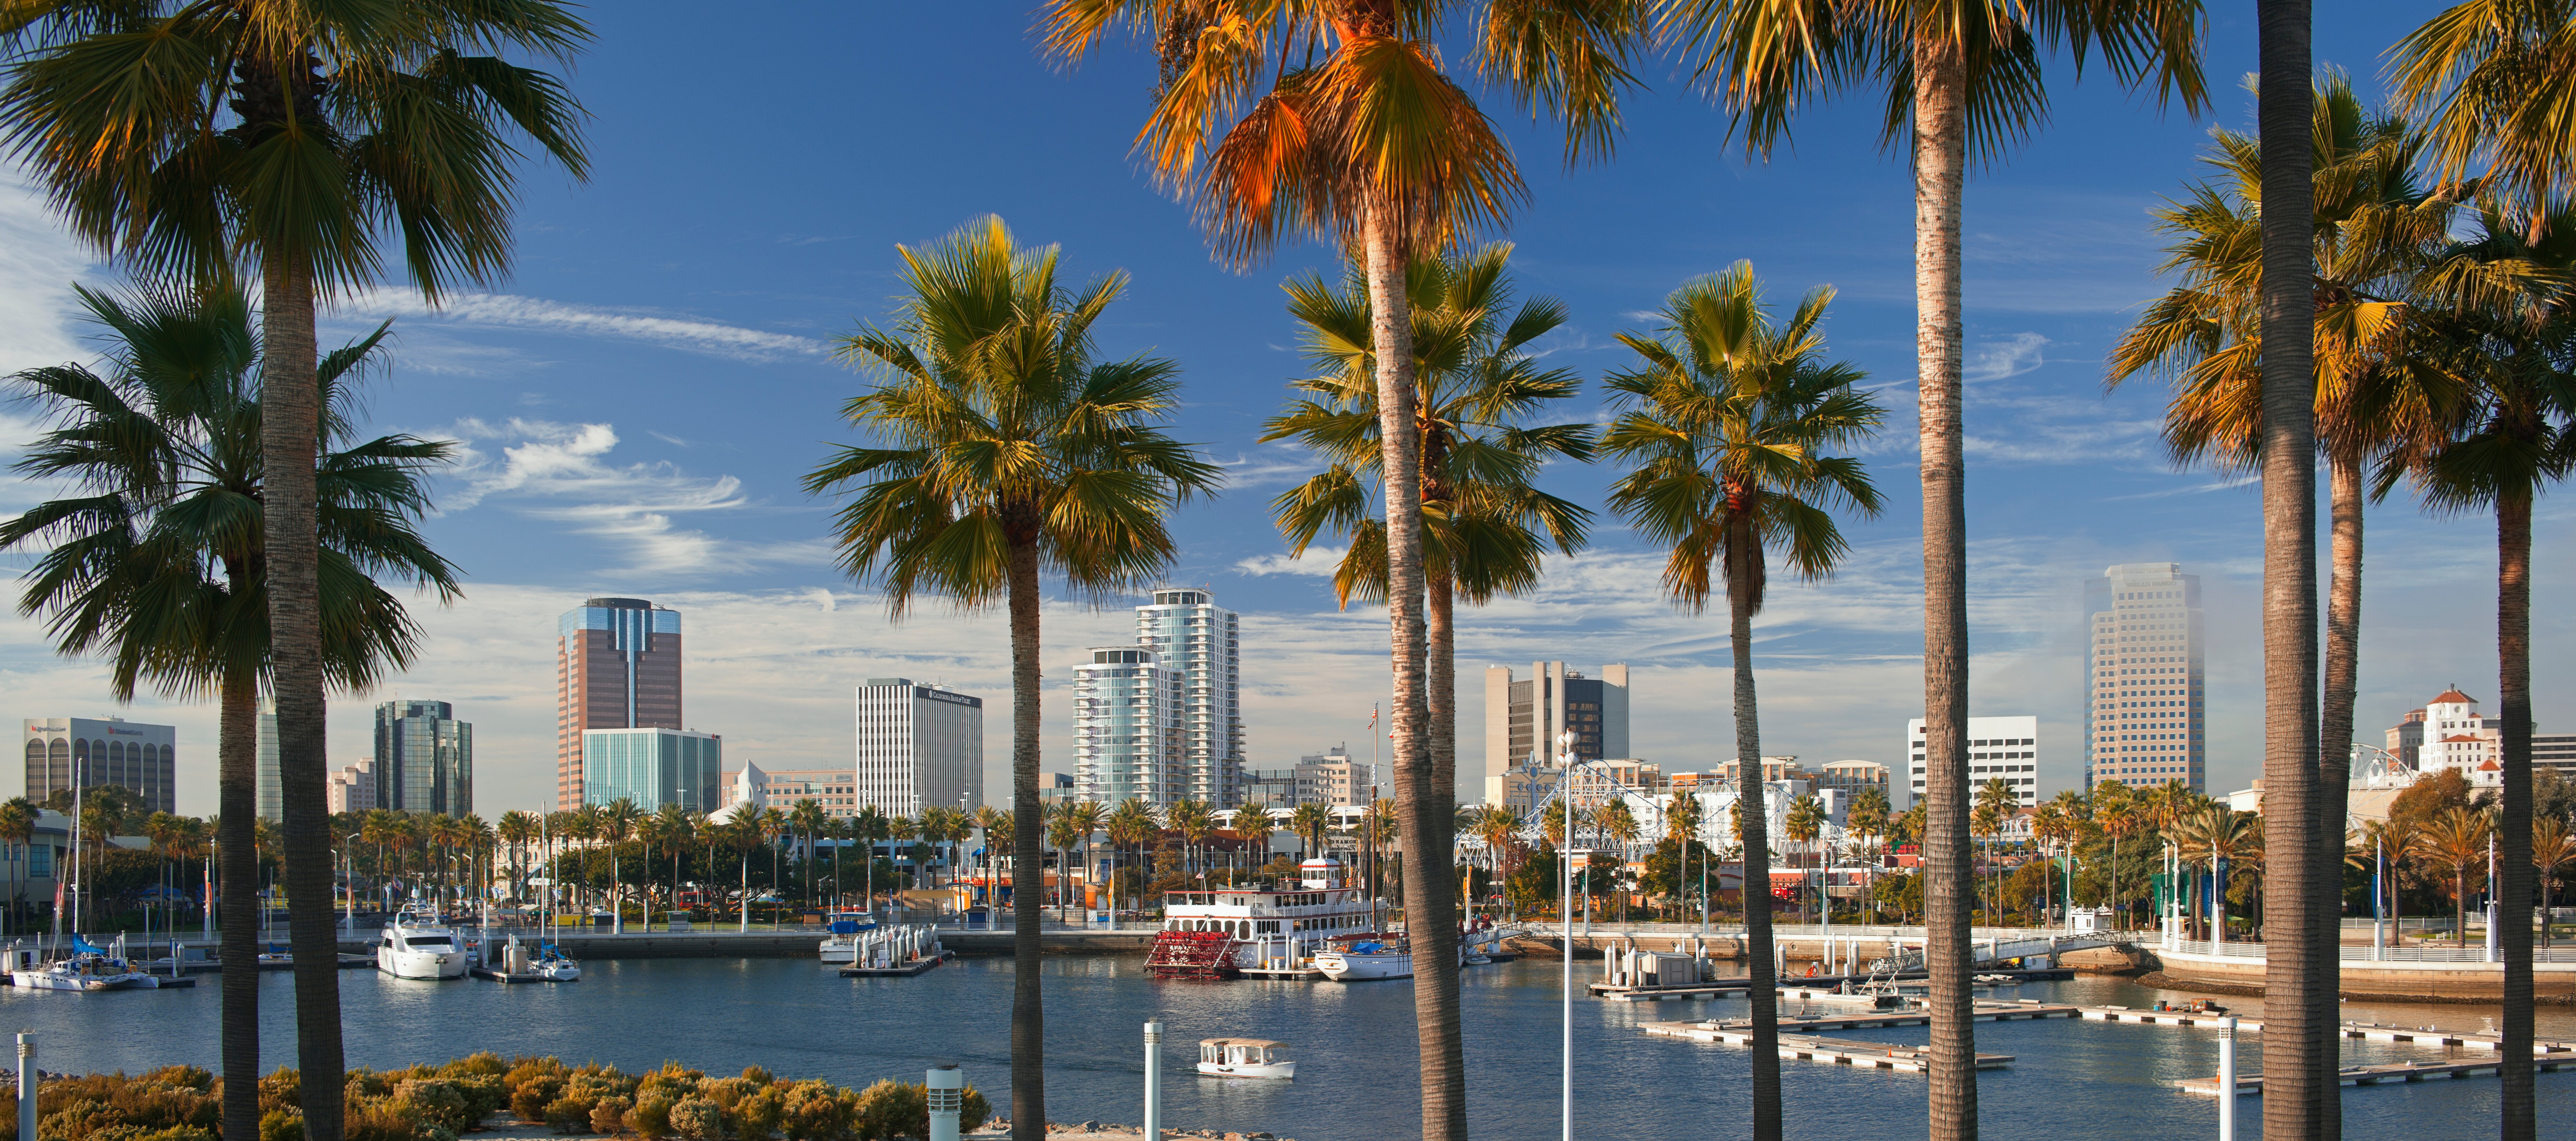
<path id="1" fill-rule="evenodd" d="M 1159 428 L 1177 410 L 1177 366 L 1092 358 L 1123 273 L 1066 291 L 1056 250 L 1020 250 L 1002 219 L 902 255 L 909 296 L 894 327 L 842 340 L 848 361 L 886 376 L 842 407 L 881 446 L 837 448 L 806 492 L 855 487 L 837 515 L 842 569 L 873 580 L 896 618 L 914 592 L 1007 603 L 1012 858 L 1036 868 L 1038 580 L 1054 569 L 1095 598 L 1149 582 L 1172 561 L 1172 507 L 1213 492 L 1218 469 Z M 1036 894 L 1015 919 L 1010 1118 L 1046 1120 Z"/>

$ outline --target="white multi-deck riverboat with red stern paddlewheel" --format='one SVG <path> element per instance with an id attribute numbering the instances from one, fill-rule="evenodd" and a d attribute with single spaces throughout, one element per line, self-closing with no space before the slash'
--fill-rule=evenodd
<path id="1" fill-rule="evenodd" d="M 1242 971 L 1311 971 L 1327 940 L 1378 927 L 1378 909 L 1347 883 L 1342 860 L 1298 865 L 1280 889 L 1172 891 L 1146 974 L 1157 979 L 1229 979 Z"/>

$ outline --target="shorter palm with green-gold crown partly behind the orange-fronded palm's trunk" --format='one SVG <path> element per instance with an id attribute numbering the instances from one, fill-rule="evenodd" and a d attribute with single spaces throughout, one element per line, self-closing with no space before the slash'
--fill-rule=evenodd
<path id="1" fill-rule="evenodd" d="M 1538 492 L 1530 482 L 1548 458 L 1592 458 L 1592 425 L 1530 425 L 1548 402 L 1582 391 L 1571 368 L 1540 368 L 1538 337 L 1566 322 L 1566 306 L 1540 296 L 1512 306 L 1512 247 L 1417 255 L 1404 278 L 1414 353 L 1414 433 L 1422 476 L 1425 685 L 1430 701 L 1432 786 L 1450 788 L 1458 770 L 1455 603 L 1489 603 L 1538 585 L 1548 546 L 1584 546 L 1592 513 Z M 1298 440 L 1332 466 L 1270 500 L 1270 515 L 1303 554 L 1324 531 L 1350 546 L 1334 569 L 1334 595 L 1386 600 L 1386 523 L 1370 515 L 1370 484 L 1383 484 L 1378 440 L 1373 304 L 1365 273 L 1342 288 L 1321 276 L 1288 283 L 1288 312 L 1303 327 L 1306 358 L 1321 376 L 1298 381 L 1303 394 L 1262 425 L 1262 443 Z M 1546 531 L 1546 536 L 1540 536 Z"/>

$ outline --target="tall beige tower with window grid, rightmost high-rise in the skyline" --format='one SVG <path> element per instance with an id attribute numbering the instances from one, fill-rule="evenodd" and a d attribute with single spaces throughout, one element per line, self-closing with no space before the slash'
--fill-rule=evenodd
<path id="1" fill-rule="evenodd" d="M 2084 788 L 2182 780 L 2208 793 L 2200 574 L 2110 567 L 2084 582 Z"/>

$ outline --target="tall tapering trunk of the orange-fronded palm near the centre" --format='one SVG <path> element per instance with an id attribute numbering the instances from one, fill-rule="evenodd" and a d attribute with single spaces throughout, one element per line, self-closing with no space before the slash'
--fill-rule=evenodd
<path id="1" fill-rule="evenodd" d="M 1363 216 L 1368 325 L 1378 371 L 1378 438 L 1386 474 L 1386 626 L 1394 659 L 1394 711 L 1386 755 L 1404 814 L 1404 932 L 1414 945 L 1414 1025 L 1422 1051 L 1422 1141 L 1466 1141 L 1466 1053 L 1458 1030 L 1458 914 L 1448 878 L 1453 822 L 1432 773 L 1425 695 L 1422 618 L 1422 435 L 1414 425 L 1414 330 L 1404 296 L 1409 250 L 1391 203 Z M 337 1141 L 337 1138 L 332 1138 Z"/>

